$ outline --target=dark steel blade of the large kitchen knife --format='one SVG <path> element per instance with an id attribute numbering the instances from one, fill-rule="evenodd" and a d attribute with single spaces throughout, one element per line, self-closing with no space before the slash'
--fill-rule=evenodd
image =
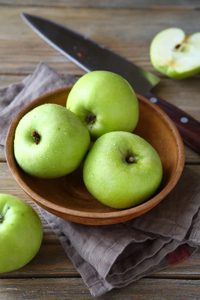
<path id="1" fill-rule="evenodd" d="M 27 13 L 21 15 L 40 37 L 86 72 L 101 69 L 118 73 L 141 95 L 160 81 L 157 76 L 69 28 Z"/>

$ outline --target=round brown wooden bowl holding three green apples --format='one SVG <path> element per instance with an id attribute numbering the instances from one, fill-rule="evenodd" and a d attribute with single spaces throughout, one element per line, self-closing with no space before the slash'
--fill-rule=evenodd
<path id="1" fill-rule="evenodd" d="M 86 189 L 82 179 L 82 165 L 74 172 L 55 179 L 39 179 L 21 170 L 13 153 L 13 141 L 19 120 L 28 111 L 44 103 L 65 106 L 72 86 L 48 92 L 27 104 L 12 121 L 5 142 L 9 169 L 20 187 L 39 206 L 69 221 L 104 225 L 134 218 L 159 203 L 178 181 L 184 165 L 184 148 L 178 130 L 171 119 L 155 104 L 137 94 L 139 121 L 135 134 L 147 140 L 158 152 L 163 178 L 156 193 L 146 202 L 128 209 L 115 209 L 96 200 Z"/>

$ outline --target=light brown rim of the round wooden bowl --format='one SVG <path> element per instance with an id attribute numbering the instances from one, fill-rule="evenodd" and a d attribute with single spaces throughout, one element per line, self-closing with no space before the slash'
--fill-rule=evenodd
<path id="1" fill-rule="evenodd" d="M 7 135 L 6 135 L 6 140 L 5 140 L 5 156 L 7 160 L 8 167 L 19 184 L 19 186 L 24 190 L 24 192 L 33 199 L 39 206 L 44 207 L 46 210 L 48 210 L 46 207 L 49 208 L 50 211 L 56 211 L 62 215 L 71 215 L 74 217 L 79 217 L 79 218 L 87 218 L 87 219 L 112 219 L 112 218 L 117 218 L 117 217 L 125 217 L 128 215 L 140 213 L 141 211 L 145 212 L 149 210 L 151 207 L 155 206 L 157 203 L 159 203 L 175 186 L 177 183 L 181 173 L 182 169 L 184 166 L 184 146 L 182 142 L 182 138 L 179 134 L 178 129 L 176 128 L 175 124 L 173 121 L 170 119 L 170 117 L 161 109 L 159 108 L 156 104 L 152 103 L 149 101 L 147 98 L 145 98 L 142 95 L 139 95 L 136 93 L 136 96 L 139 100 L 141 100 L 145 105 L 150 106 L 159 116 L 161 116 L 162 120 L 167 124 L 167 126 L 171 129 L 173 132 L 174 139 L 176 140 L 176 147 L 177 147 L 177 152 L 178 152 L 178 158 L 177 158 L 177 165 L 175 168 L 175 171 L 172 175 L 171 180 L 167 183 L 167 185 L 154 197 L 151 199 L 147 200 L 146 202 L 139 204 L 134 207 L 126 208 L 126 209 L 119 209 L 118 211 L 113 211 L 113 212 L 89 212 L 89 211 L 80 211 L 80 210 L 74 210 L 70 209 L 67 207 L 60 207 L 59 205 L 52 203 L 45 198 L 41 197 L 38 195 L 36 192 L 34 192 L 19 176 L 18 172 L 16 171 L 16 161 L 14 158 L 14 153 L 13 153 L 13 141 L 14 141 L 14 133 L 15 128 L 21 119 L 21 114 L 25 114 L 31 109 L 28 109 L 29 106 L 32 104 L 37 104 L 40 102 L 41 99 L 45 97 L 49 97 L 53 94 L 59 94 L 65 91 L 68 91 L 72 88 L 73 85 L 68 85 L 65 87 L 60 87 L 58 89 L 54 89 L 52 91 L 49 91 L 47 93 L 44 93 L 40 95 L 39 97 L 33 99 L 30 101 L 26 106 L 24 106 L 14 117 L 12 120 Z M 33 108 L 32 108 L 33 109 Z M 27 111 L 26 111 L 27 110 Z M 19 118 L 20 117 L 20 118 Z"/>

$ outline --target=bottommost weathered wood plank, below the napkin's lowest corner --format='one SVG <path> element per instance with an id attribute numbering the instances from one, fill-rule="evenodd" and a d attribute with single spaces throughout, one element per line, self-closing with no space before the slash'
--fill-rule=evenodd
<path id="1" fill-rule="evenodd" d="M 139 279 L 123 288 L 113 289 L 99 300 L 197 300 L 200 280 Z M 1 279 L 0 299 L 94 299 L 81 278 Z"/>

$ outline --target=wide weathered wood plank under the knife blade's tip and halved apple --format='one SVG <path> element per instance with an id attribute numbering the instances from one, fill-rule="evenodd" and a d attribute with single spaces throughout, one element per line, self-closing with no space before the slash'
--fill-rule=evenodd
<path id="1" fill-rule="evenodd" d="M 75 1 L 74 1 L 75 2 Z M 141 1 L 142 2 L 142 1 Z M 95 9 L 66 7 L 0 7 L 0 73 L 31 73 L 39 60 L 57 71 L 83 74 L 83 71 L 53 49 L 20 17 L 25 11 L 59 21 L 85 34 L 111 50 L 157 73 L 149 60 L 153 36 L 169 26 L 188 34 L 199 30 L 199 10 Z"/>

